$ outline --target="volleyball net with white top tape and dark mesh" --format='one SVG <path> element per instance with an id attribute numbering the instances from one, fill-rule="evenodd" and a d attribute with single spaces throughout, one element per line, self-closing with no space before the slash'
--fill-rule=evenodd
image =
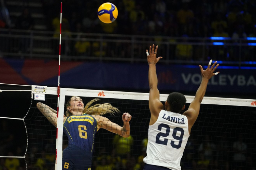
<path id="1" fill-rule="evenodd" d="M 92 170 L 143 169 L 150 121 L 149 94 L 60 88 L 58 115 L 60 119 L 58 119 L 57 130 L 36 106 L 38 102 L 42 102 L 57 111 L 57 88 L 32 86 L 31 91 L 33 99 L 31 99 L 29 111 L 24 113 L 24 118 L 20 119 L 24 121 L 26 127 L 22 128 L 21 133 L 24 138 L 27 138 L 25 153 L 20 158 L 25 158 L 27 169 L 62 169 L 62 150 L 68 144 L 68 138 L 63 134 L 62 118 L 66 112 L 66 103 L 71 96 L 81 97 L 84 104 L 99 98 L 97 103 L 110 103 L 117 107 L 120 114 L 104 116 L 120 126 L 123 126 L 123 113 L 128 112 L 132 116 L 128 138 L 105 129 L 100 129 L 96 133 Z M 161 94 L 160 101 L 165 102 L 167 97 L 168 95 Z M 185 97 L 187 103 L 184 111 L 194 99 L 194 96 Z M 191 130 L 183 154 L 181 167 L 191 170 L 253 167 L 255 165 L 255 107 L 255 100 L 251 99 L 204 97 L 198 119 Z M 12 118 L 12 114 L 8 113 L 1 117 L 2 122 L 6 118 L 11 120 L 9 118 Z M 12 119 L 13 123 L 14 121 L 19 120 Z M 6 154 L 0 156 L 8 158 Z"/>

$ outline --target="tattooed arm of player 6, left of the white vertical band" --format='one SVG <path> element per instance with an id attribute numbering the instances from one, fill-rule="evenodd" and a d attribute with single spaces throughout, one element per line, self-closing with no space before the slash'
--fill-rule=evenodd
<path id="1" fill-rule="evenodd" d="M 49 120 L 49 122 L 57 127 L 57 111 L 43 103 L 37 103 L 37 108 Z M 63 118 L 63 121 L 64 119 L 65 118 Z"/>

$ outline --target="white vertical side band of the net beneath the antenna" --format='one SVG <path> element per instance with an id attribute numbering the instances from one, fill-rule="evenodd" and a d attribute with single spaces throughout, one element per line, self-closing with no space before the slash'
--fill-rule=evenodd
<path id="1" fill-rule="evenodd" d="M 56 162 L 55 170 L 62 169 L 62 136 L 63 136 L 63 116 L 65 106 L 65 91 L 66 88 L 60 88 L 58 118 L 57 118 L 57 139 L 56 139 Z"/>

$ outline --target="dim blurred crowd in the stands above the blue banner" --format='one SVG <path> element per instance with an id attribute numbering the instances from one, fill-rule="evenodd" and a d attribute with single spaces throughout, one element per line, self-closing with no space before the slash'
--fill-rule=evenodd
<path id="1" fill-rule="evenodd" d="M 67 56 L 143 56 L 148 45 L 125 43 L 125 40 L 131 42 L 131 37 L 111 37 L 122 34 L 155 36 L 152 39 L 137 36 L 136 40 L 163 42 L 160 52 L 167 52 L 171 60 L 208 61 L 209 58 L 215 58 L 222 61 L 255 61 L 255 40 L 247 41 L 246 38 L 256 37 L 256 0 L 110 0 L 118 9 L 117 19 L 110 24 L 101 22 L 97 17 L 98 7 L 105 2 L 103 0 L 62 2 L 62 38 L 69 38 L 63 42 L 62 54 Z M 51 44 L 42 41 L 40 47 L 51 46 L 48 48 L 56 51 L 58 46 L 55 44 L 60 30 L 60 3 L 42 0 L 42 9 L 45 15 L 45 19 L 42 19 L 45 22 L 42 23 L 45 23 L 47 31 L 55 33 L 51 37 Z M 30 11 L 31 7 L 25 5 L 23 13 L 16 21 L 12 21 L 15 25 L 13 29 L 35 29 L 37 20 L 32 18 Z M 6 27 L 6 24 L 1 24 L 0 21 L 0 27 Z M 110 36 L 97 37 L 80 33 L 104 33 Z M 221 43 L 228 44 L 225 46 L 213 46 L 212 43 L 216 40 L 196 39 L 212 36 L 232 40 L 222 40 Z M 86 38 L 91 40 L 85 40 Z M 118 41 L 113 42 L 112 39 Z M 19 52 L 32 50 L 29 49 L 32 40 L 23 38 L 19 41 Z M 168 46 L 165 46 L 165 42 Z M 247 43 L 252 45 L 248 46 Z"/>

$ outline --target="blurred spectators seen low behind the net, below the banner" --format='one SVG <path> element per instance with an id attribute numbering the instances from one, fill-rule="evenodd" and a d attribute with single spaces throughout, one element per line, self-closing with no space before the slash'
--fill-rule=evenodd
<path id="1" fill-rule="evenodd" d="M 0 140 L 0 156 L 24 156 L 24 158 L 0 158 L 0 170 L 54 170 L 56 140 L 37 140 L 26 145 L 15 142 L 15 135 L 3 129 Z M 115 135 L 111 143 L 96 143 L 92 162 L 93 170 L 142 170 L 146 156 L 147 138 L 136 140 L 136 136 L 123 138 Z M 45 143 L 42 143 L 45 142 Z M 104 144 L 103 144 L 104 143 Z M 103 145 L 102 145 L 103 144 Z M 255 143 L 254 143 L 255 144 Z M 255 170 L 254 145 L 246 141 L 245 134 L 228 137 L 190 136 L 183 158 L 182 170 Z M 106 147 L 106 145 L 109 145 Z M 63 141 L 63 148 L 67 141 Z"/>

